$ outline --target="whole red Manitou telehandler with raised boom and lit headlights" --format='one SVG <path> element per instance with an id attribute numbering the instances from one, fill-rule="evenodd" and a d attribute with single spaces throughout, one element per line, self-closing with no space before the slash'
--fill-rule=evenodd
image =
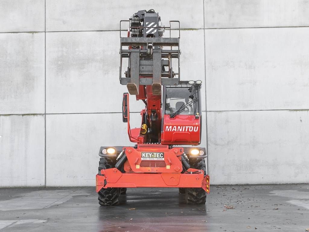
<path id="1" fill-rule="evenodd" d="M 123 22 L 129 24 L 127 37 L 121 37 Z M 171 23 L 178 25 L 172 32 L 179 37 L 171 37 Z M 167 28 L 170 36 L 162 37 Z M 154 10 L 138 11 L 120 21 L 119 78 L 129 91 L 123 94 L 122 120 L 128 124 L 129 140 L 136 145 L 100 148 L 96 175 L 100 205 L 117 205 L 126 188 L 136 187 L 178 187 L 187 204 L 205 204 L 210 185 L 207 155 L 205 148 L 192 147 L 201 143 L 201 81 L 180 80 L 179 38 L 179 21 L 161 26 Z M 123 58 L 129 62 L 124 77 Z M 138 128 L 130 128 L 129 94 L 145 103 Z"/>

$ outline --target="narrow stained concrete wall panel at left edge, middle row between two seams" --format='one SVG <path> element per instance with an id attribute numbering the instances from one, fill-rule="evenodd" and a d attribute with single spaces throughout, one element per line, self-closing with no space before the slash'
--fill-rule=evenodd
<path id="1" fill-rule="evenodd" d="M 44 33 L 0 33 L 0 114 L 44 113 Z"/>

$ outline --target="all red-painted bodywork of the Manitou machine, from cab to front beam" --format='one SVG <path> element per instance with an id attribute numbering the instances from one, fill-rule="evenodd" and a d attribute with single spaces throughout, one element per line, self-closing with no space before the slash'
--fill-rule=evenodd
<path id="1" fill-rule="evenodd" d="M 111 187 L 201 187 L 209 193 L 209 176 L 205 174 L 205 171 L 189 168 L 184 173 L 182 163 L 184 156 L 182 155 L 188 153 L 190 156 L 188 152 L 190 149 L 171 146 L 171 144 L 200 144 L 201 117 L 199 110 L 196 110 L 200 109 L 200 106 L 196 106 L 194 114 L 180 113 L 174 116 L 168 114 L 171 113 L 168 110 L 173 107 L 169 107 L 170 103 L 167 103 L 167 98 L 161 104 L 161 95 L 154 95 L 151 86 L 139 88 L 140 92 L 136 95 L 136 99 L 146 100 L 146 108 L 141 111 L 141 127 L 132 129 L 130 127 L 129 93 L 123 95 L 122 108 L 123 119 L 128 124 L 129 140 L 137 145 L 136 147 L 121 147 L 121 151 L 124 151 L 126 155 L 123 171 L 111 168 L 101 170 L 101 173 L 97 174 L 97 191 Z M 163 93 L 167 92 L 168 87 L 163 88 Z M 187 91 L 192 86 L 186 84 L 182 88 Z M 199 96 L 200 85 L 193 86 L 193 88 Z M 175 98 L 182 99 L 179 96 Z M 148 131 L 144 133 L 142 132 L 143 125 L 148 125 L 146 126 Z M 120 153 L 119 156 L 121 156 Z M 203 157 L 205 156 L 197 158 Z"/>

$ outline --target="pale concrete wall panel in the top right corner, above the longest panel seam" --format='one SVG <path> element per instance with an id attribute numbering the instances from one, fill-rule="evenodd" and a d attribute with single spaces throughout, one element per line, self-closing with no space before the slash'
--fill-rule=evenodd
<path id="1" fill-rule="evenodd" d="M 205 28 L 309 26 L 303 0 L 204 0 Z"/>

